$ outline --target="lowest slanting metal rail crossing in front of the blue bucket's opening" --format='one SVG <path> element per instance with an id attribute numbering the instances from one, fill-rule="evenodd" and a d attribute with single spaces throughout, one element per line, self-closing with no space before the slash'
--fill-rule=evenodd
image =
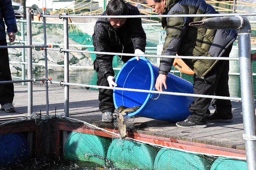
<path id="1" fill-rule="evenodd" d="M 104 89 L 112 89 L 112 90 L 136 91 L 136 92 L 142 92 L 142 93 L 170 94 L 170 95 L 176 95 L 176 96 L 203 97 L 203 98 L 241 101 L 241 98 L 239 97 L 224 97 L 224 96 L 212 96 L 212 95 L 202 95 L 202 94 L 176 93 L 176 92 L 167 92 L 167 91 L 151 91 L 151 90 L 141 90 L 141 89 L 133 89 L 133 88 L 84 85 L 84 84 L 78 84 L 78 83 L 65 83 L 65 82 L 55 82 L 55 81 L 48 81 L 48 83 L 59 84 L 59 85 L 74 85 L 74 86 L 90 87 L 90 88 L 104 88 Z"/>

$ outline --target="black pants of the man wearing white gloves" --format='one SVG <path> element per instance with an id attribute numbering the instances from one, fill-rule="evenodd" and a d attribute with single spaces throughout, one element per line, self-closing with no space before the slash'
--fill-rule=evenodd
<path id="1" fill-rule="evenodd" d="M 123 49 L 123 53 L 134 53 L 133 46 L 129 46 L 128 48 Z M 121 57 L 121 56 L 119 56 Z M 133 58 L 132 56 L 122 56 L 122 61 L 126 63 L 128 60 Z M 97 62 L 97 61 L 95 61 Z M 95 68 L 97 70 L 97 68 Z M 102 72 L 99 70 L 97 73 L 97 85 L 99 86 L 108 86 L 108 80 L 107 77 L 105 77 Z M 102 113 L 104 112 L 112 112 L 114 113 L 115 106 L 114 106 L 114 100 L 113 100 L 113 90 L 111 89 L 104 89 L 99 88 L 99 109 Z"/>

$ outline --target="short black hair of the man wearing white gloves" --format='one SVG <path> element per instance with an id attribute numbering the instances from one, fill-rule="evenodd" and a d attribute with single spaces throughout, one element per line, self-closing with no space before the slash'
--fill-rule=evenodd
<path id="1" fill-rule="evenodd" d="M 106 8 L 107 15 L 128 15 L 129 9 L 123 0 L 111 0 Z"/>

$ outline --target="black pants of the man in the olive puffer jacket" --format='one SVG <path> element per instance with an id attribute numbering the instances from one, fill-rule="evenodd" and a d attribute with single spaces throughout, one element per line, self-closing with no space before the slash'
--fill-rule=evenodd
<path id="1" fill-rule="evenodd" d="M 231 47 L 223 54 L 228 57 Z M 229 60 L 220 60 L 217 65 L 203 79 L 194 74 L 194 94 L 216 95 L 229 97 L 228 86 Z M 207 123 L 207 116 L 210 115 L 209 106 L 211 98 L 195 97 L 194 102 L 189 106 L 191 115 L 188 120 L 196 124 Z M 214 99 L 212 106 L 215 108 L 214 115 L 220 118 L 233 118 L 230 100 Z"/>

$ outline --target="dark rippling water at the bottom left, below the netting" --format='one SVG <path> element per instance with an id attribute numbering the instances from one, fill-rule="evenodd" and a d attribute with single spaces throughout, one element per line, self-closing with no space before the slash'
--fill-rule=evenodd
<path id="1" fill-rule="evenodd" d="M 112 167 L 97 167 L 94 163 L 76 160 L 29 160 L 16 162 L 6 166 L 0 166 L 1 170 L 117 170 Z"/>

